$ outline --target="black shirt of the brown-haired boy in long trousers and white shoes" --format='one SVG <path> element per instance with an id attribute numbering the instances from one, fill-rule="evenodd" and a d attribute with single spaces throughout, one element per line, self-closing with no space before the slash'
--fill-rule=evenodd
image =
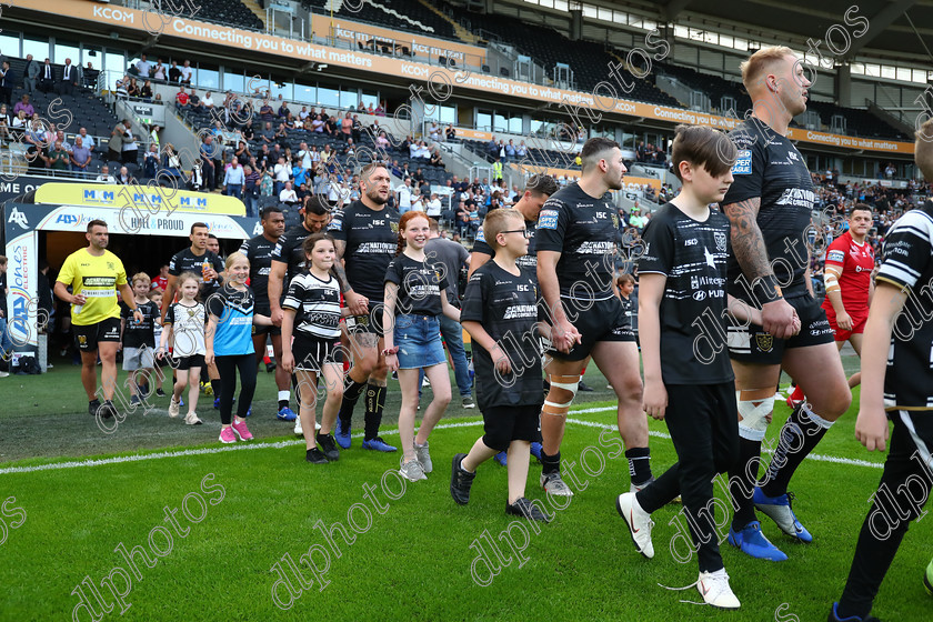
<path id="1" fill-rule="evenodd" d="M 639 274 L 664 274 L 661 375 L 665 384 L 732 380 L 725 349 L 729 219 L 715 210 L 700 222 L 662 205 L 642 234 Z"/>

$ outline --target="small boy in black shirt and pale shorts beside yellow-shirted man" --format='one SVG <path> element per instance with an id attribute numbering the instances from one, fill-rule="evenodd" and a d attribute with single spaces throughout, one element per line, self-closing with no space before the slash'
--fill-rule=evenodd
<path id="1" fill-rule="evenodd" d="M 156 368 L 156 332 L 159 308 L 149 300 L 149 275 L 144 272 L 133 274 L 132 288 L 137 309 L 142 313 L 142 321 L 133 319 L 132 310 L 120 305 L 120 342 L 123 349 L 123 371 L 130 372 L 130 404 L 138 404 L 141 388 L 149 384 L 149 375 Z M 161 371 L 159 372 L 162 373 Z M 143 395 L 146 398 L 148 395 Z"/>

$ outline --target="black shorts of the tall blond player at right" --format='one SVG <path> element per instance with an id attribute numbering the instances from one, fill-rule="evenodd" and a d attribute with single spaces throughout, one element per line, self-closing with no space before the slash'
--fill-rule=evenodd
<path id="1" fill-rule="evenodd" d="M 765 365 L 778 364 L 784 358 L 784 350 L 835 342 L 833 329 L 826 320 L 826 312 L 809 292 L 785 300 L 797 312 L 800 333 L 790 339 L 774 339 L 758 324 L 730 325 L 728 330 L 730 359 Z"/>

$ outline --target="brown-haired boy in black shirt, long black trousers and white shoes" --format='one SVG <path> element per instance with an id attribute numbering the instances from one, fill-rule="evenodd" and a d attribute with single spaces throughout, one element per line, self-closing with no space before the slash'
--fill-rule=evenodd
<path id="1" fill-rule="evenodd" d="M 725 343 L 715 338 L 725 334 L 730 225 L 709 204 L 721 201 L 729 190 L 735 151 L 729 138 L 712 128 L 676 129 L 672 160 L 683 190 L 658 210 L 644 230 L 639 319 L 644 410 L 658 420 L 666 417 L 678 462 L 641 491 L 620 494 L 615 502 L 635 548 L 653 558 L 654 523 L 649 516 L 680 494 L 700 563 L 693 585 L 706 604 L 722 609 L 739 609 L 739 600 L 719 552 L 713 479 L 735 461 L 739 428 L 734 375 Z M 720 324 L 720 330 L 706 330 L 704 320 Z"/>

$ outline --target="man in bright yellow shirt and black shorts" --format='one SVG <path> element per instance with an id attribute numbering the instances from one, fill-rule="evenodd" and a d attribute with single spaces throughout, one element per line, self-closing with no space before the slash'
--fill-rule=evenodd
<path id="1" fill-rule="evenodd" d="M 133 291 L 127 283 L 123 262 L 107 250 L 110 239 L 107 223 L 88 223 L 88 248 L 74 251 L 61 267 L 56 281 L 56 295 L 71 303 L 71 327 L 74 343 L 81 352 L 81 383 L 88 393 L 88 411 L 107 419 L 117 414 L 113 391 L 117 388 L 117 345 L 120 343 L 120 307 L 116 291 L 133 310 L 133 320 L 141 322 Z M 71 292 L 68 293 L 68 287 Z M 100 353 L 103 404 L 97 398 L 97 358 Z"/>

